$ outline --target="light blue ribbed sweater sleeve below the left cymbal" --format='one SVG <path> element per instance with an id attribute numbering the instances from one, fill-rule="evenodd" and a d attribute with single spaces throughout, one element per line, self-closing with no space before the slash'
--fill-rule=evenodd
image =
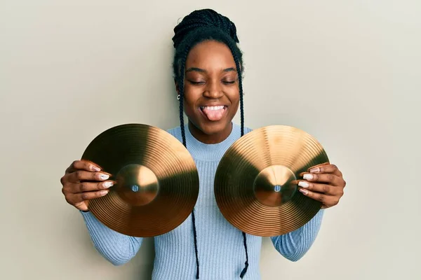
<path id="1" fill-rule="evenodd" d="M 96 250 L 113 265 L 123 265 L 138 253 L 142 238 L 122 235 L 98 221 L 91 212 L 81 211 Z"/>

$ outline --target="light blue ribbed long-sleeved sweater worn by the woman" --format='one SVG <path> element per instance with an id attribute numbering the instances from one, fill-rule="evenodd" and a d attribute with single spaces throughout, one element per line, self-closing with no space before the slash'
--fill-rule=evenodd
<path id="1" fill-rule="evenodd" d="M 168 130 L 182 141 L 180 127 Z M 245 128 L 244 134 L 250 132 Z M 220 213 L 213 193 L 213 181 L 218 163 L 225 151 L 240 138 L 239 125 L 233 125 L 231 134 L 219 144 L 203 144 L 196 140 L 186 125 L 186 145 L 199 172 L 199 197 L 195 207 L 197 249 L 199 253 L 200 279 L 231 280 L 239 275 L 246 261 L 243 236 Z M 123 265 L 135 256 L 142 238 L 129 237 L 102 225 L 91 212 L 81 212 L 91 235 L 93 245 L 104 258 L 114 265 Z M 286 235 L 271 237 L 281 255 L 296 261 L 312 246 L 321 225 L 323 210 L 298 230 Z M 155 260 L 152 279 L 189 280 L 196 279 L 196 256 L 192 215 L 178 228 L 154 237 Z M 259 261 L 262 237 L 247 235 L 248 270 L 243 277 L 260 279 Z"/>

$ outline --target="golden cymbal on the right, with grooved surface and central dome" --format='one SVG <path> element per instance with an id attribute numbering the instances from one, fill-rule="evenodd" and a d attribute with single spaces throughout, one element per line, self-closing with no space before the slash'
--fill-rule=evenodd
<path id="1" fill-rule="evenodd" d="M 311 135 L 295 127 L 271 125 L 232 144 L 215 174 L 215 199 L 222 215 L 250 235 L 272 237 L 300 228 L 321 203 L 298 191 L 309 167 L 328 162 Z"/>

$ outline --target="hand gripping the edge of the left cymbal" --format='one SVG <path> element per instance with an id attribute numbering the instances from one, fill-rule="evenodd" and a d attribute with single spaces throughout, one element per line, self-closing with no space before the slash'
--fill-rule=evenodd
<path id="1" fill-rule="evenodd" d="M 107 195 L 114 181 L 107 181 L 109 174 L 100 171 L 100 167 L 85 160 L 75 160 L 67 167 L 60 179 L 67 203 L 81 211 L 88 211 L 88 200 Z"/>

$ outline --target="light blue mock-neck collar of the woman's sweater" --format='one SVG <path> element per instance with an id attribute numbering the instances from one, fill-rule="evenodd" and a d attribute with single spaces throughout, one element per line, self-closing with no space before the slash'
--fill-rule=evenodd
<path id="1" fill-rule="evenodd" d="M 217 144 L 205 144 L 192 135 L 188 124 L 185 125 L 186 146 L 189 153 L 196 160 L 220 160 L 227 149 L 241 137 L 241 127 L 232 123 L 229 136 Z"/>

